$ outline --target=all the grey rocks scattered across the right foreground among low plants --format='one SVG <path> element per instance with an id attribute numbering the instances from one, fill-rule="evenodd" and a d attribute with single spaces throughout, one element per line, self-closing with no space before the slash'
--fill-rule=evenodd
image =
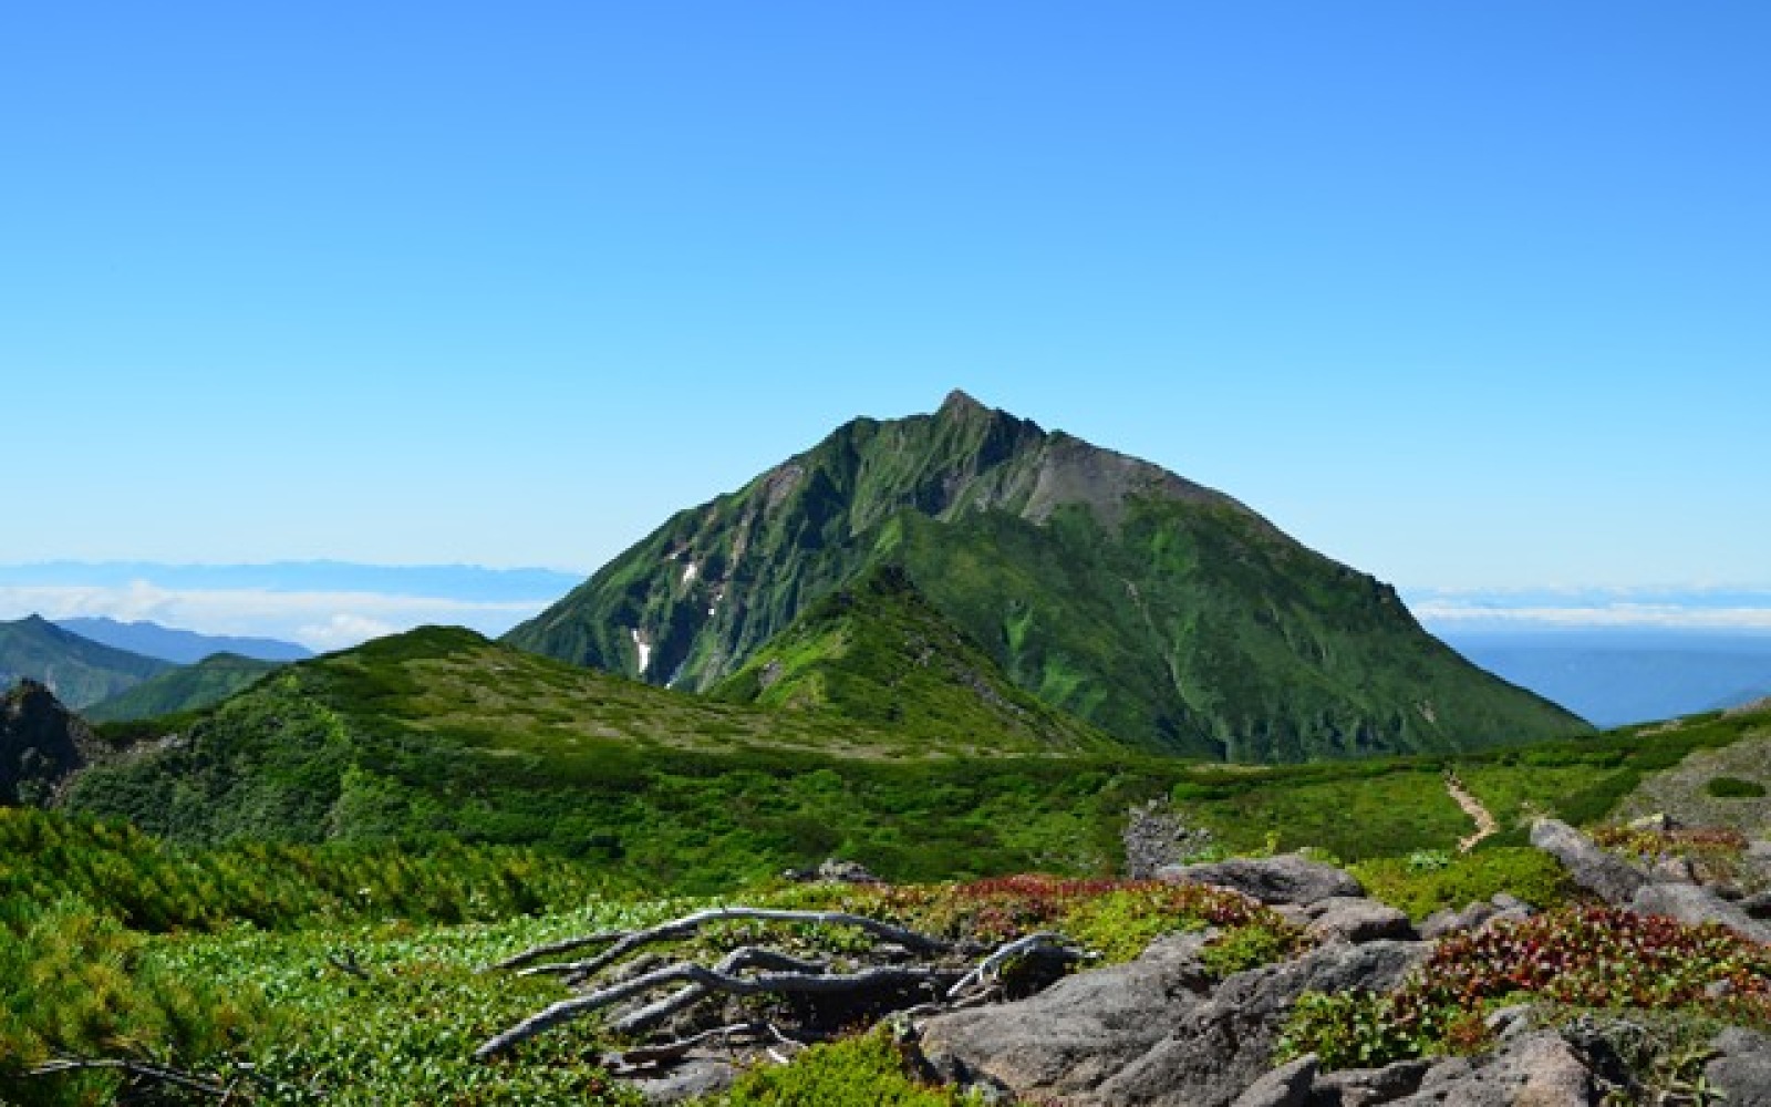
<path id="1" fill-rule="evenodd" d="M 1704 886 L 1690 870 L 1645 871 L 1551 820 L 1534 831 L 1571 879 L 1605 903 L 1682 923 L 1720 923 L 1766 942 L 1759 902 Z M 1755 850 L 1764 850 L 1757 845 Z M 1070 976 L 1048 990 L 916 1027 L 926 1073 L 986 1100 L 1068 1107 L 1574 1107 L 1667 1102 L 1771 1105 L 1771 1038 L 1728 1027 L 1684 1066 L 1677 1088 L 1651 1091 L 1631 1056 L 1633 1024 L 1573 1018 L 1546 1026 L 1514 1006 L 1486 1015 L 1493 1049 L 1325 1072 L 1314 1054 L 1275 1068 L 1293 1004 L 1307 992 L 1388 992 L 1447 935 L 1532 914 L 1509 896 L 1442 912 L 1419 930 L 1364 896 L 1348 873 L 1300 855 L 1164 870 L 1162 879 L 1250 894 L 1298 921 L 1319 944 L 1295 960 L 1213 979 L 1206 933 L 1158 939 L 1137 960 Z M 1635 1068 L 1633 1068 L 1635 1066 Z"/>

